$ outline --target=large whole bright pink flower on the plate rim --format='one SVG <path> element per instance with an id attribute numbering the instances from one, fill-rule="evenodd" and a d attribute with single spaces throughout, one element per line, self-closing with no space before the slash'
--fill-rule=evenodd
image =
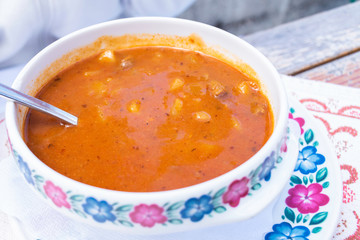
<path id="1" fill-rule="evenodd" d="M 299 212 L 316 213 L 319 206 L 324 206 L 329 202 L 329 197 L 322 194 L 323 187 L 318 183 L 310 184 L 308 187 L 304 185 L 296 185 L 289 190 L 290 196 L 286 198 L 286 204 L 291 208 L 297 208 Z"/>

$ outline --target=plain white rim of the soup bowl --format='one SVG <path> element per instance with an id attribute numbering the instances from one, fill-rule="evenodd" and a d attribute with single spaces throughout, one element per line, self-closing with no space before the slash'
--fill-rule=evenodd
<path id="1" fill-rule="evenodd" d="M 113 21 L 108 21 L 100 24 L 96 24 L 90 27 L 86 27 L 84 29 L 75 31 L 63 38 L 58 39 L 57 41 L 53 42 L 49 46 L 45 47 L 43 50 L 41 50 L 36 56 L 34 56 L 21 70 L 21 72 L 16 77 L 12 87 L 15 89 L 19 89 L 23 84 L 23 78 L 26 76 L 26 73 L 36 66 L 39 59 L 43 57 L 43 55 L 50 51 L 51 49 L 56 49 L 59 46 L 61 46 L 63 43 L 66 43 L 68 41 L 73 41 L 74 39 L 78 38 L 79 36 L 91 34 L 92 32 L 97 32 L 99 29 L 106 28 L 106 27 L 112 27 L 116 26 L 118 24 L 132 24 L 136 22 L 145 22 L 146 24 L 152 23 L 152 24 L 158 24 L 162 22 L 166 22 L 166 24 L 184 24 L 184 25 L 193 25 L 197 28 L 204 28 L 210 31 L 213 31 L 215 34 L 224 35 L 224 37 L 231 38 L 232 40 L 236 40 L 239 42 L 239 45 L 242 45 L 244 48 L 250 49 L 250 51 L 254 54 L 256 58 L 259 59 L 263 64 L 265 64 L 268 68 L 268 70 L 272 73 L 272 78 L 274 79 L 274 83 L 276 84 L 276 88 L 278 90 L 278 96 L 279 96 L 279 102 L 280 102 L 280 109 L 279 109 L 279 118 L 277 122 L 274 123 L 273 132 L 270 136 L 270 138 L 267 140 L 267 142 L 263 145 L 263 147 L 256 152 L 251 158 L 246 160 L 243 164 L 240 166 L 218 176 L 213 179 L 210 179 L 205 182 L 201 182 L 195 185 L 172 189 L 172 190 L 165 190 L 165 191 L 154 191 L 154 192 L 126 192 L 126 191 L 118 191 L 118 190 L 111 190 L 111 189 L 105 189 L 100 188 L 96 186 L 92 186 L 86 183 L 82 183 L 79 181 L 76 181 L 74 179 L 71 179 L 65 175 L 62 175 L 58 173 L 57 171 L 53 170 L 49 166 L 47 166 L 45 163 L 43 163 L 39 158 L 37 158 L 27 147 L 25 144 L 25 141 L 21 137 L 19 128 L 17 127 L 17 120 L 16 120 L 16 106 L 12 102 L 8 102 L 6 104 L 6 111 L 5 111 L 5 119 L 6 119 L 6 128 L 8 131 L 9 139 L 12 144 L 16 146 L 16 150 L 18 152 L 21 152 L 21 155 L 27 156 L 26 161 L 31 163 L 31 166 L 33 168 L 40 168 L 41 172 L 47 172 L 49 176 L 51 176 L 52 179 L 57 179 L 56 184 L 59 184 L 61 186 L 65 185 L 72 185 L 74 189 L 81 189 L 82 192 L 97 192 L 98 194 L 101 194 L 104 198 L 106 197 L 113 197 L 115 195 L 123 195 L 124 197 L 139 197 L 139 199 L 142 199 L 143 202 L 146 202 L 146 199 L 159 199 L 161 197 L 169 196 L 171 194 L 177 193 L 179 195 L 187 194 L 189 191 L 191 192 L 199 192 L 203 191 L 202 189 L 211 189 L 214 186 L 218 186 L 219 184 L 223 184 L 225 182 L 230 183 L 231 181 L 237 179 L 239 176 L 242 176 L 244 174 L 241 174 L 242 172 L 248 173 L 253 168 L 256 168 L 271 152 L 273 149 L 274 144 L 278 144 L 279 142 L 276 142 L 275 140 L 280 140 L 283 135 L 285 128 L 287 126 L 287 111 L 288 111 L 288 101 L 287 96 L 285 92 L 284 84 L 282 83 L 280 76 L 275 69 L 275 67 L 270 63 L 270 61 L 262 55 L 259 50 L 255 49 L 253 46 L 251 46 L 249 43 L 245 42 L 241 38 L 228 33 L 224 30 L 218 29 L 216 27 L 199 23 L 191 20 L 184 20 L 184 19 L 178 19 L 178 18 L 168 18 L 168 17 L 137 17 L 137 18 L 127 18 L 127 19 L 117 19 Z M 170 34 L 168 34 L 170 35 Z M 97 38 L 100 36 L 97 36 Z M 201 36 L 200 36 L 201 37 Z M 71 50 L 70 50 L 71 51 Z M 69 51 L 67 51 L 69 52 Z M 66 52 L 64 53 L 66 54 Z M 246 61 L 244 61 L 246 62 Z M 43 68 L 43 70 L 46 69 Z M 31 159 L 31 160 L 30 160 Z M 36 167 L 35 167 L 36 166 Z M 249 169 L 249 170 L 247 170 Z M 247 175 L 247 174 L 245 174 Z M 58 179 L 61 179 L 61 182 L 58 181 Z M 232 179 L 231 181 L 226 179 Z M 131 198 L 130 198 L 131 199 Z"/>

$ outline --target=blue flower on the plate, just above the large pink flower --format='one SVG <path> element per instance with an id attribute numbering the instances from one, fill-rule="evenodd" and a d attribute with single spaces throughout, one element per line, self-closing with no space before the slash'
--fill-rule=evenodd
<path id="1" fill-rule="evenodd" d="M 294 171 L 300 170 L 302 174 L 316 172 L 317 165 L 325 162 L 325 157 L 316 152 L 317 149 L 313 146 L 304 147 L 302 151 L 299 152 Z"/>

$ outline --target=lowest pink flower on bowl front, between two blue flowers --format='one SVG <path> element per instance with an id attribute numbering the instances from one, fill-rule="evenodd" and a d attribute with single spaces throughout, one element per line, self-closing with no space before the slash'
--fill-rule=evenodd
<path id="1" fill-rule="evenodd" d="M 140 223 L 143 227 L 153 227 L 155 223 L 167 221 L 167 217 L 162 215 L 163 212 L 164 209 L 156 204 L 140 204 L 130 213 L 130 218 L 133 222 Z"/>

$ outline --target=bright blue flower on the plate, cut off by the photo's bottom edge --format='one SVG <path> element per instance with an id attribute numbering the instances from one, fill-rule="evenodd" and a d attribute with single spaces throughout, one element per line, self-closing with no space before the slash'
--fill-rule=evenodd
<path id="1" fill-rule="evenodd" d="M 265 235 L 265 240 L 309 240 L 310 230 L 304 226 L 294 228 L 287 222 L 275 224 L 273 232 Z"/>

